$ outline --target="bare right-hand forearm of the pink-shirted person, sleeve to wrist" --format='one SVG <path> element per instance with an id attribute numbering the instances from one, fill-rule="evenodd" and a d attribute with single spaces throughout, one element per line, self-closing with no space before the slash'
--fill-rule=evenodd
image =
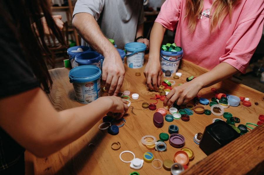
<path id="1" fill-rule="evenodd" d="M 221 82 L 224 79 L 227 79 L 228 77 L 231 77 L 233 74 L 239 72 L 235 67 L 231 66 L 228 63 L 222 62 L 216 67 L 214 67 L 209 72 L 206 72 L 199 77 L 193 79 L 197 85 L 201 88 L 205 88 L 208 86 L 211 86 L 213 84 L 216 84 L 218 82 Z"/>

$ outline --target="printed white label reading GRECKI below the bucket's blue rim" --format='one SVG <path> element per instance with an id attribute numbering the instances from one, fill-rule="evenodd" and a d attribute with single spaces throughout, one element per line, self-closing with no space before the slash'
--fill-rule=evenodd
<path id="1" fill-rule="evenodd" d="M 162 72 L 169 70 L 171 73 L 176 73 L 179 68 L 181 55 L 178 56 L 166 56 L 160 55 L 160 64 Z"/>

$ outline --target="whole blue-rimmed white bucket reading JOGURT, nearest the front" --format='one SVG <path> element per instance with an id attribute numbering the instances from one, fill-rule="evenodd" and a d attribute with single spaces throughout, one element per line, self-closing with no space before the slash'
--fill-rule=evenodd
<path id="1" fill-rule="evenodd" d="M 101 70 L 94 65 L 77 66 L 70 70 L 69 78 L 72 83 L 76 101 L 88 104 L 101 96 Z"/>

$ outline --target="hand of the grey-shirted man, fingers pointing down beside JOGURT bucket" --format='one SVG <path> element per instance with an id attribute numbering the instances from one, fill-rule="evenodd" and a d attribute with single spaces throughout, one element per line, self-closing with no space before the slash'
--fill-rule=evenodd
<path id="1" fill-rule="evenodd" d="M 113 47 L 114 48 L 114 47 Z M 111 54 L 110 54 L 111 53 Z M 108 96 L 116 96 L 123 84 L 125 68 L 116 49 L 104 55 L 102 80 Z"/>

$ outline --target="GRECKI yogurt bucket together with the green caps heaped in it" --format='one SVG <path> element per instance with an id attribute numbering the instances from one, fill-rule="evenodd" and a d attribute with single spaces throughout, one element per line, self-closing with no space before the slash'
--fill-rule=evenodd
<path id="1" fill-rule="evenodd" d="M 160 49 L 160 64 L 162 72 L 176 73 L 179 68 L 180 60 L 183 56 L 181 47 L 173 44 L 166 44 Z"/>

